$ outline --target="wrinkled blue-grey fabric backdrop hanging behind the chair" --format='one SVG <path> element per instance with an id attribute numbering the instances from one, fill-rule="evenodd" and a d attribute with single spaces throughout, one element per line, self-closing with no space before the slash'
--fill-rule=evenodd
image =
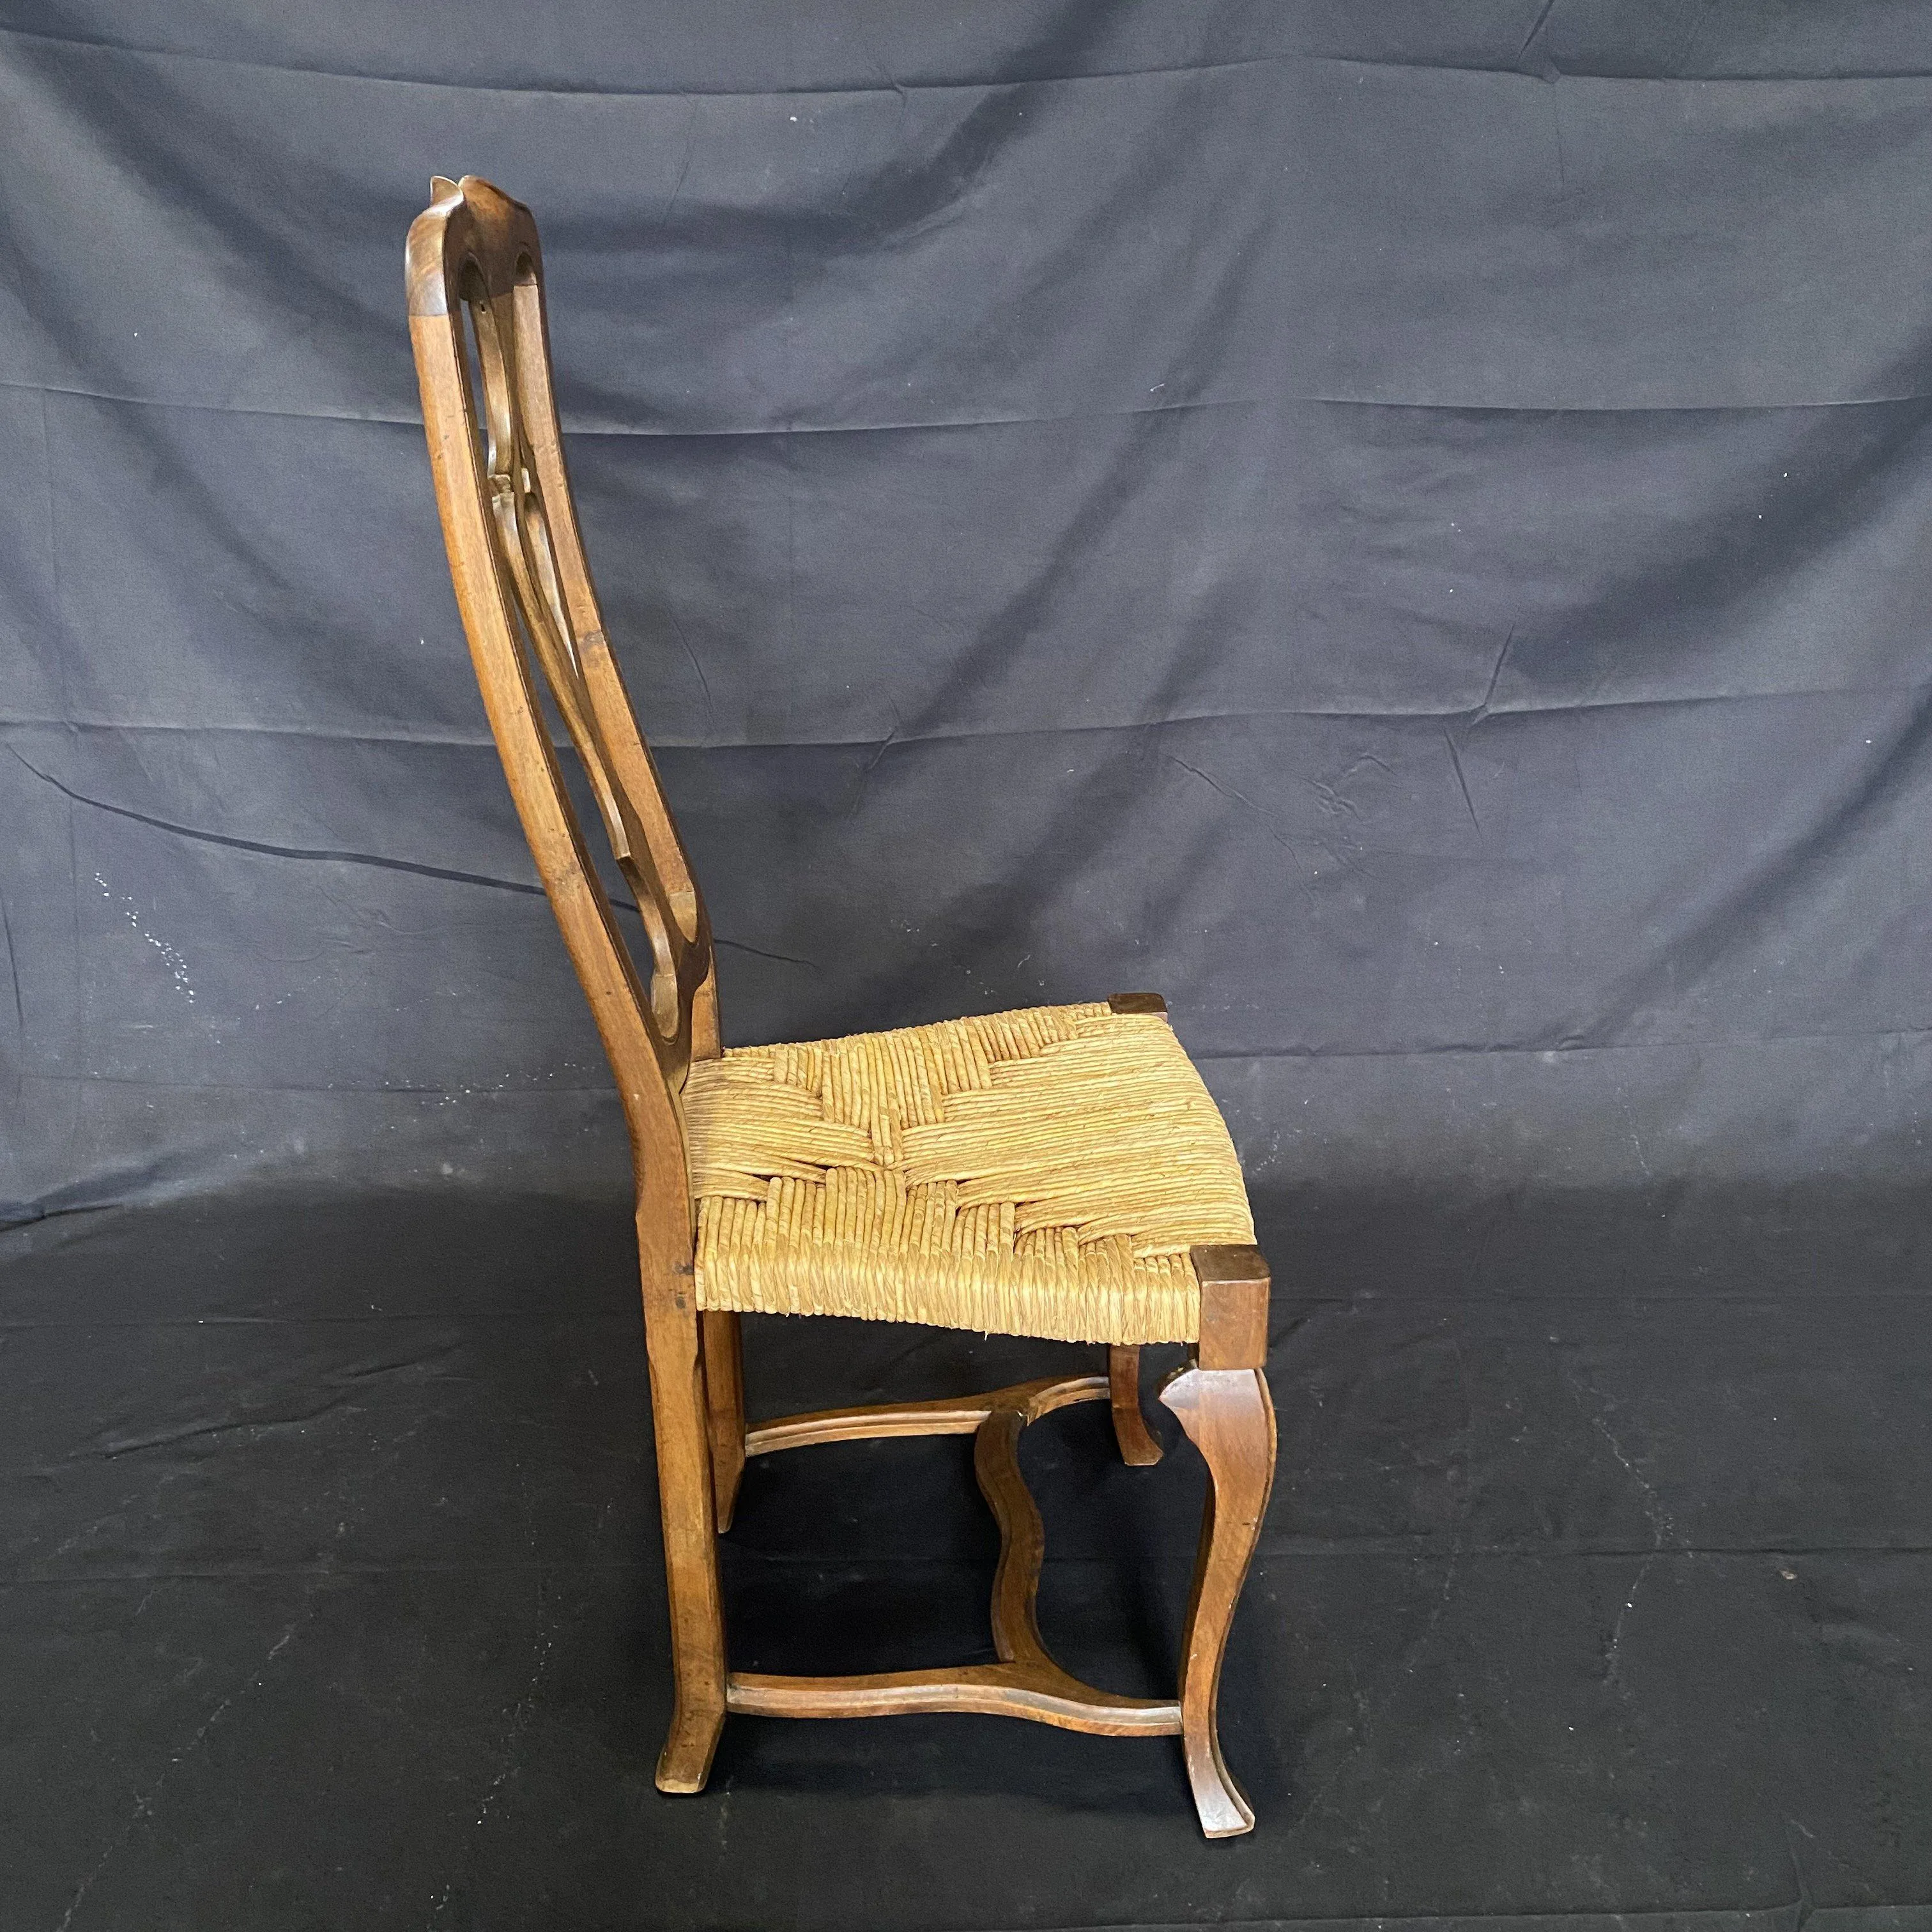
<path id="1" fill-rule="evenodd" d="M 835 12 L 0 10 L 8 1213 L 624 1184 L 433 168 L 543 224 L 730 1039 L 1155 987 L 1277 1204 L 1922 1180 L 1922 14 Z"/>

